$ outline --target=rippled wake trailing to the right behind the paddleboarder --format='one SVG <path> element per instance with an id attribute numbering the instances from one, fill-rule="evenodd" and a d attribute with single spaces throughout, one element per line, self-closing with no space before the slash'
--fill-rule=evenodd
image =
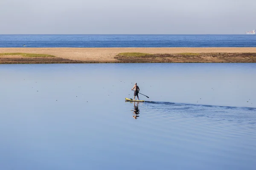
<path id="1" fill-rule="evenodd" d="M 229 126 L 244 126 L 248 129 L 255 129 L 256 125 L 256 108 L 156 101 L 131 103 L 134 103 L 136 109 L 140 110 L 140 118 L 147 115 L 150 119 L 165 117 L 172 120 L 182 119 L 182 122 L 184 119 L 213 124 L 221 122 Z"/>

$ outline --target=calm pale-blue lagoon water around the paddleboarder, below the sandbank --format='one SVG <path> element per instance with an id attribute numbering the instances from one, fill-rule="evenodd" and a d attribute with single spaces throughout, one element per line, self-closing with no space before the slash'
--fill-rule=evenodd
<path id="1" fill-rule="evenodd" d="M 0 169 L 255 170 L 255 75 L 255 63 L 0 65 Z M 134 82 L 148 102 L 125 102 Z"/>

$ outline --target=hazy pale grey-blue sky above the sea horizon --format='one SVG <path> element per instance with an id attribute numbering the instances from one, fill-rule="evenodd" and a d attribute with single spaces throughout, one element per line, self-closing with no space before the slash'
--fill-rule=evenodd
<path id="1" fill-rule="evenodd" d="M 0 34 L 245 34 L 256 0 L 0 0 Z"/>

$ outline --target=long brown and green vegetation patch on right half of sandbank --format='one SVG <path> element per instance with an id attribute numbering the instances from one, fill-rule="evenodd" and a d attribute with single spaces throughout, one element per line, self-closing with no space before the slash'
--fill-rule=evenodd
<path id="1" fill-rule="evenodd" d="M 254 62 L 256 53 L 119 53 L 121 62 Z"/>

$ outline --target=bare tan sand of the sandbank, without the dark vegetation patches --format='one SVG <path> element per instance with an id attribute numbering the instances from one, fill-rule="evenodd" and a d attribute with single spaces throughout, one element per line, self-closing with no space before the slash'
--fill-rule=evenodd
<path id="1" fill-rule="evenodd" d="M 64 59 L 67 62 L 64 63 L 101 63 L 101 62 L 121 62 L 116 59 L 116 55 L 124 52 L 139 52 L 139 53 L 149 53 L 149 54 L 177 54 L 177 53 L 256 53 L 256 48 L 0 48 L 0 53 L 33 53 L 33 54 L 50 54 L 58 59 Z M 23 57 L 19 56 L 1 56 L 0 63 L 3 60 L 7 61 L 11 59 L 15 63 L 15 59 L 20 59 Z M 211 58 L 197 58 L 192 59 L 185 58 L 182 60 L 175 61 L 166 60 L 166 62 L 186 62 L 195 60 L 195 62 L 211 62 Z M 252 57 L 254 58 L 254 57 Z M 33 59 L 29 59 L 33 61 Z M 133 61 L 135 60 L 135 61 Z M 218 62 L 218 57 L 212 60 L 213 62 Z M 248 60 L 249 61 L 249 60 Z M 136 58 L 132 58 L 130 61 L 126 62 L 136 62 Z M 153 62 L 157 62 L 157 59 Z M 162 61 L 159 61 L 162 62 Z M 220 61 L 223 62 L 223 61 Z M 250 62 L 254 62 L 251 60 Z M 18 63 L 18 62 L 17 62 Z M 29 62 L 30 63 L 30 62 Z M 31 62 L 32 63 L 32 62 Z M 37 62 L 34 62 L 37 63 Z M 41 63 L 41 62 L 39 62 Z M 52 63 L 58 63 L 53 61 Z"/>

